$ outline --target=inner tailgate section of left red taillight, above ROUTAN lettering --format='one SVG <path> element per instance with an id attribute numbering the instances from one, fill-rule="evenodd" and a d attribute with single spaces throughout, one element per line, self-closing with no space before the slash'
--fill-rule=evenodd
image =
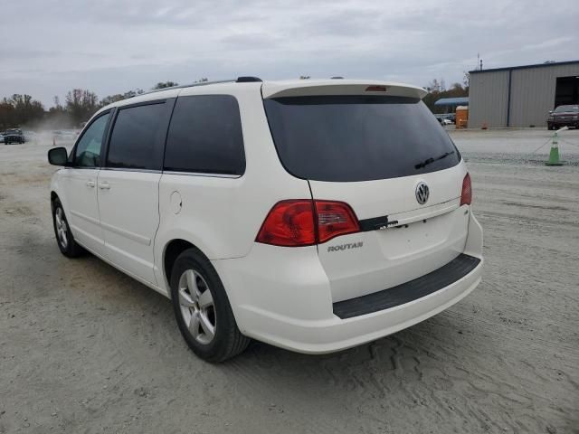
<path id="1" fill-rule="evenodd" d="M 314 201 L 318 214 L 318 242 L 360 231 L 356 214 L 343 202 Z"/>

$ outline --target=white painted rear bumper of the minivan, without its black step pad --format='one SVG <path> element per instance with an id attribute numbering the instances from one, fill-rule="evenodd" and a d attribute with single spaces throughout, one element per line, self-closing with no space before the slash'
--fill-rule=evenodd
<path id="1" fill-rule="evenodd" d="M 216 260 L 214 266 L 244 335 L 299 353 L 324 354 L 391 335 L 451 307 L 479 285 L 481 251 L 482 230 L 471 215 L 461 256 L 468 255 L 476 263 L 463 270 L 466 274 L 444 282 L 443 287 L 439 281 L 437 290 L 423 291 L 421 297 L 351 317 L 336 315 L 337 304 L 332 303 L 315 246 L 287 249 L 256 244 L 247 257 Z M 428 287 L 428 282 L 422 287 Z"/>

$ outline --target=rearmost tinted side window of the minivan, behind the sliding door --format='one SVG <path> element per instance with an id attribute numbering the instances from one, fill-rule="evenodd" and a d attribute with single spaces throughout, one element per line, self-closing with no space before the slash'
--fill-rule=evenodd
<path id="1" fill-rule="evenodd" d="M 180 97 L 166 140 L 164 170 L 243 175 L 242 122 L 230 95 Z"/>

